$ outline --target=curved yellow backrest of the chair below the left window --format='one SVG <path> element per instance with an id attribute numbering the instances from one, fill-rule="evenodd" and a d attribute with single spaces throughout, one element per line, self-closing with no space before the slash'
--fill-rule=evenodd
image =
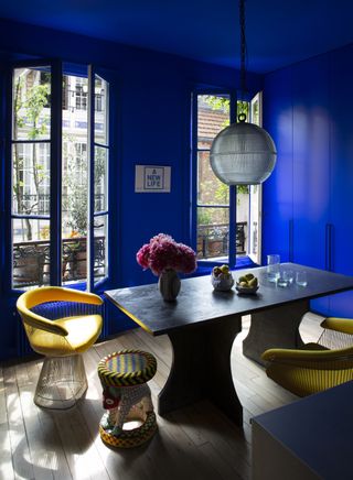
<path id="1" fill-rule="evenodd" d="M 58 286 L 33 288 L 23 293 L 17 302 L 17 308 L 24 325 L 46 330 L 52 334 L 66 336 L 67 330 L 64 327 L 53 323 L 51 319 L 45 318 L 39 313 L 33 312 L 34 307 L 52 302 L 74 302 L 89 305 L 103 304 L 103 299 L 98 295 L 87 292 L 79 292 Z"/>

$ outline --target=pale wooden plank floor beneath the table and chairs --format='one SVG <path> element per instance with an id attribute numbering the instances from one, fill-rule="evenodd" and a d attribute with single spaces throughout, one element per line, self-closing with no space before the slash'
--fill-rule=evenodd
<path id="1" fill-rule="evenodd" d="M 301 324 L 304 341 L 319 338 L 321 318 L 309 314 Z M 45 411 L 33 403 L 41 360 L 0 366 L 0 479 L 236 480 L 250 478 L 250 417 L 297 397 L 242 354 L 249 317 L 232 351 L 236 391 L 244 406 L 244 428 L 234 426 L 203 401 L 165 417 L 145 446 L 113 450 L 98 435 L 101 388 L 97 362 L 124 348 L 152 352 L 158 371 L 149 382 L 152 400 L 163 386 L 171 364 L 167 336 L 152 338 L 141 329 L 96 345 L 85 354 L 89 388 L 86 397 L 67 411 Z"/>

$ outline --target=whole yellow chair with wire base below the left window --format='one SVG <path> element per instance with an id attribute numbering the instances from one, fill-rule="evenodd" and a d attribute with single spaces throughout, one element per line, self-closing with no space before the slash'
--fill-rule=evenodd
<path id="1" fill-rule="evenodd" d="M 34 403 L 68 408 L 87 390 L 82 353 L 99 337 L 103 299 L 92 293 L 45 286 L 23 293 L 17 308 L 31 347 L 44 354 Z"/>

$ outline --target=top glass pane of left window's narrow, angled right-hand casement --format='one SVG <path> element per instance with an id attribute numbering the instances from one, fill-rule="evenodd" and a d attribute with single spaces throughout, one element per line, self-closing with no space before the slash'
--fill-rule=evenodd
<path id="1" fill-rule="evenodd" d="M 108 144 L 109 84 L 95 76 L 95 143 Z"/>

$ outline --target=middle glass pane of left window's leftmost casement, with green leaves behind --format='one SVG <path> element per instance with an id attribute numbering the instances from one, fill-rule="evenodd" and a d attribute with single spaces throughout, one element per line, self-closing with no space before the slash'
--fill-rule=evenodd
<path id="1" fill-rule="evenodd" d="M 12 212 L 50 214 L 50 143 L 12 145 Z"/>

